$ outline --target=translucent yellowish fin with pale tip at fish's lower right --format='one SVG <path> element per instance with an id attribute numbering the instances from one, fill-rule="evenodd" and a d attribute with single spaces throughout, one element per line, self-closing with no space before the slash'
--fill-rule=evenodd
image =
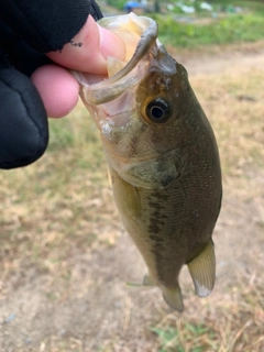
<path id="1" fill-rule="evenodd" d="M 213 288 L 216 279 L 216 256 L 213 242 L 210 241 L 202 252 L 187 263 L 187 265 L 197 295 L 199 297 L 208 296 Z"/>

